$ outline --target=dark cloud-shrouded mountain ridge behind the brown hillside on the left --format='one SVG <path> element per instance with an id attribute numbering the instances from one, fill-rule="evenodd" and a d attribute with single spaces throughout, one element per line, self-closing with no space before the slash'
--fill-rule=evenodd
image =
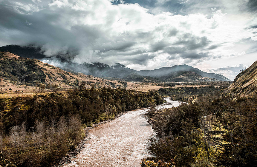
<path id="1" fill-rule="evenodd" d="M 7 45 L 0 47 L 1 52 L 11 52 L 25 58 L 36 58 L 49 64 L 55 64 L 57 62 L 58 67 L 65 71 L 82 72 L 86 75 L 93 75 L 96 77 L 111 77 L 111 78 L 123 78 L 129 75 L 131 72 L 137 72 L 134 69 L 130 69 L 123 64 L 115 63 L 110 66 L 107 64 L 94 62 L 92 64 L 83 63 L 77 64 L 69 60 L 65 60 L 61 57 L 47 58 L 40 51 L 39 47 L 33 45 L 19 46 L 19 45 Z"/>

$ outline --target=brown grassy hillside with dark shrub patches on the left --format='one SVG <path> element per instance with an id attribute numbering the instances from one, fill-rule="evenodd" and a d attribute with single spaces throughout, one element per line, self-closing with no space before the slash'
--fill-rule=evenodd
<path id="1" fill-rule="evenodd" d="M 29 85 L 56 84 L 65 88 L 79 86 L 81 82 L 94 84 L 95 87 L 116 87 L 118 84 L 92 75 L 66 72 L 37 59 L 23 58 L 10 52 L 0 52 L 0 78 L 2 83 L 9 80 Z"/>

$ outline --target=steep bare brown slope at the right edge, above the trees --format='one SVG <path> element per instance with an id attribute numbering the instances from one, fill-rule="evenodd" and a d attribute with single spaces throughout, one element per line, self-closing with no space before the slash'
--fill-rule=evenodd
<path id="1" fill-rule="evenodd" d="M 233 97 L 246 97 L 257 93 L 257 61 L 239 73 L 227 90 Z"/>

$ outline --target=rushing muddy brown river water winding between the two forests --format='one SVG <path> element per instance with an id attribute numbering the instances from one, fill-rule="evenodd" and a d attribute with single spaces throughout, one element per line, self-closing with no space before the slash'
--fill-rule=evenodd
<path id="1" fill-rule="evenodd" d="M 178 101 L 165 98 L 157 108 L 178 106 Z M 154 135 L 147 119 L 142 116 L 148 109 L 130 111 L 115 120 L 101 124 L 88 133 L 81 153 L 73 163 L 63 167 L 139 167 L 149 156 L 149 139 Z"/>

